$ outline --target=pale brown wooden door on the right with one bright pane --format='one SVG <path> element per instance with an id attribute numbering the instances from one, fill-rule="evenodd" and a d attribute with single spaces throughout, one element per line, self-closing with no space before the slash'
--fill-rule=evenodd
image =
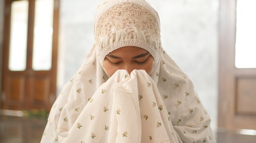
<path id="1" fill-rule="evenodd" d="M 255 24 L 243 20 L 247 17 L 256 20 L 256 11 L 252 8 L 256 2 L 244 3 L 247 6 L 243 9 L 238 7 L 243 4 L 240 2 L 253 1 L 220 1 L 218 126 L 229 131 L 256 130 L 256 29 Z M 247 14 L 241 16 L 241 12 Z M 240 27 L 240 22 L 245 25 Z M 241 46 L 240 50 L 238 46 Z M 237 56 L 241 52 L 247 52 L 243 60 L 248 59 L 245 63 L 251 63 L 251 66 L 243 67 L 237 64 Z"/>

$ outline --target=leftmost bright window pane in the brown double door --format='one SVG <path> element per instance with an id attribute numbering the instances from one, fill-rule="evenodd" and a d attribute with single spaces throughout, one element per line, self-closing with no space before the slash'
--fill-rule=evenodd
<path id="1" fill-rule="evenodd" d="M 9 69 L 24 71 L 27 61 L 27 22 L 28 0 L 11 3 L 11 35 L 9 51 Z"/>

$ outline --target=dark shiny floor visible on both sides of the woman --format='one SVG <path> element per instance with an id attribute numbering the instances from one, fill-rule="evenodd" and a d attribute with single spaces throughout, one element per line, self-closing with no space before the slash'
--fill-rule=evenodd
<path id="1" fill-rule="evenodd" d="M 0 115 L 0 143 L 40 143 L 46 119 Z M 217 143 L 256 143 L 256 136 L 218 132 Z"/>

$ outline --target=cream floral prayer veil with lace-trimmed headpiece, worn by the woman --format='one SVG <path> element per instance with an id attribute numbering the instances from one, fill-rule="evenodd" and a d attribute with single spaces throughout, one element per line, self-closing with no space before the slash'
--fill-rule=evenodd
<path id="1" fill-rule="evenodd" d="M 134 108 L 136 111 L 135 116 L 139 119 L 136 120 L 137 122 L 135 121 L 135 126 L 140 127 L 138 128 L 138 136 L 133 137 L 137 139 L 136 142 L 146 141 L 144 139 L 144 132 L 147 131 L 144 127 L 145 124 L 148 124 L 148 126 L 151 125 L 145 122 L 145 120 L 149 118 L 147 116 L 148 114 L 152 114 L 155 119 L 162 121 L 157 122 L 156 126 L 154 124 L 154 129 L 149 128 L 148 130 L 158 132 L 158 127 L 161 126 L 161 128 L 163 128 L 164 126 L 164 128 L 161 129 L 160 133 L 154 133 L 157 134 L 156 138 L 162 139 L 155 139 L 155 136 L 149 135 L 147 136 L 147 142 L 215 142 L 210 128 L 210 117 L 200 102 L 193 87 L 193 83 L 162 50 L 159 17 L 157 12 L 146 1 L 108 0 L 100 4 L 95 17 L 94 37 L 95 44 L 89 51 L 81 68 L 63 87 L 61 94 L 54 103 L 41 142 L 69 142 L 79 140 L 79 137 L 83 136 L 81 131 L 83 131 L 84 136 L 86 136 L 85 132 L 88 132 L 86 128 L 91 128 L 92 125 L 100 125 L 101 120 L 104 120 L 99 119 L 103 116 L 99 115 L 96 106 L 97 104 L 105 103 L 106 100 L 109 100 L 110 103 L 106 102 L 105 104 L 110 106 L 105 106 L 105 104 L 101 106 L 103 106 L 105 113 L 108 113 L 108 110 L 111 111 L 111 113 L 108 113 L 111 114 L 111 119 L 106 117 L 106 120 L 112 121 L 112 123 L 109 123 L 110 125 L 105 124 L 106 131 L 110 130 L 111 127 L 114 128 L 117 126 L 113 125 L 117 120 L 119 122 L 129 121 L 126 118 L 122 118 L 123 120 L 121 120 L 116 117 L 119 115 L 118 113 L 120 113 L 120 108 L 114 110 L 115 106 L 119 105 L 121 102 L 116 101 L 119 96 L 115 94 L 116 90 L 120 91 L 120 89 L 122 89 L 121 83 L 137 85 L 135 86 L 136 88 L 132 87 L 131 90 L 134 90 L 135 93 L 139 92 L 137 93 L 138 95 L 136 95 L 138 97 L 136 101 L 132 98 L 134 104 L 136 103 L 139 107 L 131 107 Z M 119 70 L 111 78 L 108 77 L 103 67 L 105 56 L 125 46 L 143 48 L 153 56 L 155 64 L 150 75 L 141 70 L 135 70 L 130 75 L 123 70 Z M 129 79 L 124 77 L 129 77 Z M 141 85 L 144 82 L 143 80 L 148 82 L 146 82 L 145 85 Z M 152 90 L 144 90 L 147 86 L 151 88 L 151 85 Z M 106 87 L 110 89 L 106 90 Z M 119 89 L 115 87 L 119 87 Z M 112 93 L 110 92 L 111 88 L 113 90 Z M 146 95 L 142 96 L 140 92 L 149 95 L 145 97 Z M 97 98 L 101 93 L 105 93 L 108 97 Z M 125 94 L 123 91 L 119 93 Z M 152 94 L 152 97 L 155 99 L 153 102 L 146 100 L 148 98 L 151 99 L 150 94 Z M 142 98 L 147 102 L 139 102 Z M 99 101 L 99 103 L 96 101 Z M 150 106 L 153 104 L 153 107 L 158 107 L 159 110 L 152 110 L 152 113 L 148 114 L 142 113 L 145 111 L 145 108 L 149 108 L 146 107 L 148 103 L 150 103 Z M 128 110 L 128 108 L 124 110 Z M 88 113 L 91 111 L 95 112 Z M 88 121 L 85 121 L 86 119 L 88 119 Z M 98 122 L 97 124 L 89 124 L 88 122 L 90 120 L 97 120 Z M 132 120 L 130 121 L 132 122 Z M 126 122 L 125 124 L 128 123 Z M 118 130 L 118 128 L 123 127 L 118 126 L 116 128 Z M 90 132 L 90 135 L 88 135 L 90 137 L 86 138 L 88 140 L 85 139 L 85 141 L 97 143 L 109 141 L 109 143 L 112 143 L 113 141 L 123 141 L 121 140 L 122 137 L 129 137 L 130 135 L 130 132 L 126 130 L 122 132 L 121 135 L 120 133 L 119 135 L 117 134 L 115 136 L 117 137 L 116 139 L 115 137 L 110 137 L 110 135 L 103 135 L 108 133 L 104 133 L 102 130 L 104 131 L 104 129 L 97 129 L 97 131 L 99 131 L 98 134 L 96 134 L 95 131 Z M 112 131 L 112 129 L 110 131 Z M 100 134 L 102 134 L 101 138 L 98 138 Z M 163 137 L 161 135 L 163 135 Z M 81 143 L 84 141 L 83 139 L 81 139 Z M 129 141 L 130 140 L 127 138 L 123 142 Z"/>

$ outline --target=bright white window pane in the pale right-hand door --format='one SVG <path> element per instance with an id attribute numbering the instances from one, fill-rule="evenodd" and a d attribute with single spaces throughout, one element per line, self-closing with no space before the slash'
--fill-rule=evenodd
<path id="1" fill-rule="evenodd" d="M 256 0 L 237 0 L 236 67 L 256 68 Z"/>

